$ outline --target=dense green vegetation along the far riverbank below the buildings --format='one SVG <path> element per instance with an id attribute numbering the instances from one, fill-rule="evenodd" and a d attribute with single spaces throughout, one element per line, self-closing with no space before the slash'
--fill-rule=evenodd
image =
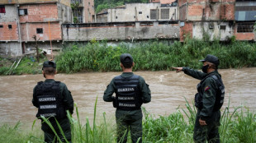
<path id="1" fill-rule="evenodd" d="M 91 41 L 88 44 L 69 44 L 56 58 L 60 72 L 121 71 L 120 55 L 130 53 L 135 61 L 135 71 L 170 70 L 170 67 L 201 68 L 198 60 L 213 54 L 220 58 L 220 68 L 256 67 L 256 44 L 232 41 L 204 42 L 186 39 L 182 44 L 154 40 L 139 43 L 121 43 L 116 46 L 107 42 Z"/>

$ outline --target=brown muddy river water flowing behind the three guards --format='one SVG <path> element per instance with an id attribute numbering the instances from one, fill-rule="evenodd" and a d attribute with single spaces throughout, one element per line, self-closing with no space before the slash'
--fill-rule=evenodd
<path id="1" fill-rule="evenodd" d="M 219 70 L 225 84 L 225 104 L 230 96 L 230 106 L 245 105 L 250 110 L 256 108 L 256 68 Z M 121 72 L 88 72 L 78 74 L 58 74 L 55 80 L 64 82 L 72 92 L 74 102 L 78 104 L 82 121 L 93 118 L 94 103 L 97 100 L 97 113 L 102 117 L 106 112 L 113 118 L 115 109 L 111 103 L 104 102 L 102 95 L 114 76 Z M 175 71 L 136 71 L 149 84 L 152 101 L 143 106 L 154 115 L 168 115 L 185 107 L 185 99 L 192 102 L 197 92 L 198 80 Z M 3 123 L 33 122 L 36 107 L 31 103 L 32 90 L 38 81 L 44 81 L 42 75 L 0 76 L 0 125 Z M 222 108 L 223 109 L 223 108 Z"/>

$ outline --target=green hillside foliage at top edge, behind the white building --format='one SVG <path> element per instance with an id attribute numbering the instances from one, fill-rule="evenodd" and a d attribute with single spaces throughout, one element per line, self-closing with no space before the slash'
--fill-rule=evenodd
<path id="1" fill-rule="evenodd" d="M 125 3 L 146 3 L 148 0 L 97 0 L 94 1 L 95 12 L 101 12 L 102 9 L 117 7 L 124 5 Z"/>

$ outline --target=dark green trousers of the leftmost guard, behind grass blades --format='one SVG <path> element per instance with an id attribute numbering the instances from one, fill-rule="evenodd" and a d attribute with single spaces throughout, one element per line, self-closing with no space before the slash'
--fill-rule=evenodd
<path id="1" fill-rule="evenodd" d="M 71 128 L 68 118 L 64 118 L 61 120 L 58 120 L 60 127 L 64 131 L 64 136 L 66 137 L 67 141 L 71 142 Z M 55 128 L 55 131 L 57 132 L 57 135 L 59 136 L 60 140 L 62 142 L 66 142 L 64 140 L 64 136 L 62 136 L 61 132 L 59 131 L 59 127 L 57 123 L 55 122 L 55 119 L 53 118 L 50 120 L 50 123 Z M 58 142 L 57 137 L 55 136 L 55 133 L 51 130 L 51 128 L 44 122 L 42 123 L 41 127 L 42 131 L 45 133 L 45 142 L 52 143 L 52 142 Z"/>

